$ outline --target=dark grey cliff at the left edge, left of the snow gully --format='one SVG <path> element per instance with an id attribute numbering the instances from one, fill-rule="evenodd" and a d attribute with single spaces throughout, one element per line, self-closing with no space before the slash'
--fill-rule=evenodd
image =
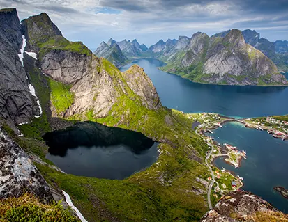
<path id="1" fill-rule="evenodd" d="M 40 115 L 22 65 L 24 43 L 16 9 L 0 10 L 0 118 L 13 129 Z"/>

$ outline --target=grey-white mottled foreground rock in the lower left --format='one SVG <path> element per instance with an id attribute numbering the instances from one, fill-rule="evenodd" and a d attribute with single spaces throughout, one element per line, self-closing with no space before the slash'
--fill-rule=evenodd
<path id="1" fill-rule="evenodd" d="M 52 201 L 50 189 L 28 155 L 0 128 L 0 199 L 33 193 L 44 203 Z"/>

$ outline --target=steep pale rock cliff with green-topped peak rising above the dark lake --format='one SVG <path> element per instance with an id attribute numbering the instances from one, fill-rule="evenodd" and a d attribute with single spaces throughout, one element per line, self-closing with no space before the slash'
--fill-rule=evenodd
<path id="1" fill-rule="evenodd" d="M 147 109 L 158 109 L 156 90 L 141 68 L 135 65 L 125 73 L 119 72 L 105 59 L 94 56 L 82 42 L 69 42 L 55 32 L 54 24 L 46 16 L 42 13 L 29 17 L 24 20 L 24 27 L 29 35 L 27 39 L 33 39 L 29 45 L 38 54 L 42 72 L 51 78 L 52 116 L 104 118 L 120 98 L 135 96 Z M 38 41 L 38 30 L 43 26 L 49 40 L 41 37 Z M 131 76 L 141 84 L 129 81 Z M 57 94 L 59 90 L 63 90 L 61 95 Z"/>

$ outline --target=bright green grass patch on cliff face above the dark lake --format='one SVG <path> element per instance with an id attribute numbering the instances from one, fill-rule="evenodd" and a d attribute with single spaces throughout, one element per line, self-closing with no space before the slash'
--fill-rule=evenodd
<path id="1" fill-rule="evenodd" d="M 56 109 L 57 113 L 66 111 L 74 102 L 74 93 L 70 92 L 71 86 L 63 84 L 59 81 L 50 80 L 51 88 L 51 102 Z"/>

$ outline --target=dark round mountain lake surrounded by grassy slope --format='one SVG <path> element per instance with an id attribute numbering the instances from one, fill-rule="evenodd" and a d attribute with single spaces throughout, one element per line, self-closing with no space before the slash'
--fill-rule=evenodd
<path id="1" fill-rule="evenodd" d="M 143 134 L 81 122 L 43 136 L 50 159 L 66 173 L 124 179 L 151 166 L 158 158 L 158 143 Z"/>

